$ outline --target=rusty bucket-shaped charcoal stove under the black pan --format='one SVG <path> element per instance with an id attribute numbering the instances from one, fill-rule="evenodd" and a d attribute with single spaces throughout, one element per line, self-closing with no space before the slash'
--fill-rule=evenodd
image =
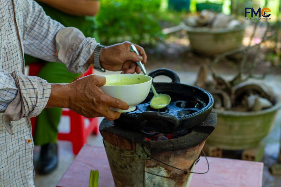
<path id="1" fill-rule="evenodd" d="M 206 139 L 215 129 L 211 113 L 201 124 L 169 134 L 120 127 L 103 120 L 100 132 L 116 187 L 187 187 Z M 159 135 L 159 136 L 158 136 Z M 159 139 L 160 140 L 153 140 Z M 163 139 L 163 140 L 162 140 Z M 206 165 L 207 170 L 207 165 Z M 202 171 L 206 172 L 206 171 Z"/>

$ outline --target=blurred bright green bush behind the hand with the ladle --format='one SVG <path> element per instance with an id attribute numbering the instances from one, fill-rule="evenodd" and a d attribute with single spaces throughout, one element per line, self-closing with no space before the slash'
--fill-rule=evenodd
<path id="1" fill-rule="evenodd" d="M 160 20 L 161 0 L 101 0 L 98 35 L 102 44 L 129 40 L 154 44 L 163 38 Z"/>

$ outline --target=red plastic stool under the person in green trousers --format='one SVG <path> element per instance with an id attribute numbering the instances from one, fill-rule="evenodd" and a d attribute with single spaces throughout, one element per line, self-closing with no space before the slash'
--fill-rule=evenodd
<path id="1" fill-rule="evenodd" d="M 29 75 L 36 76 L 41 68 L 44 66 L 43 63 L 33 63 L 29 65 Z M 92 66 L 80 77 L 85 77 L 93 73 Z M 59 133 L 59 140 L 71 141 L 73 153 L 77 155 L 82 148 L 82 146 L 87 143 L 87 138 L 90 134 L 99 133 L 99 124 L 97 118 L 86 118 L 82 115 L 73 112 L 72 110 L 65 109 L 62 111 L 62 115 L 70 117 L 70 132 L 69 133 Z M 85 127 L 85 120 L 90 120 L 88 127 Z M 32 126 L 32 135 L 35 130 L 36 117 L 30 118 Z"/>

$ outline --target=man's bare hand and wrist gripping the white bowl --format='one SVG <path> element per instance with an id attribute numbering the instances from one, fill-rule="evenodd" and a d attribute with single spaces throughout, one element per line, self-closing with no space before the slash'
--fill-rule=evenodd
<path id="1" fill-rule="evenodd" d="M 103 76 L 88 75 L 69 84 L 52 84 L 52 91 L 46 108 L 69 108 L 85 117 L 102 117 L 115 120 L 120 112 L 113 112 L 109 107 L 127 110 L 128 104 L 105 94 L 99 86 L 106 79 Z"/>

